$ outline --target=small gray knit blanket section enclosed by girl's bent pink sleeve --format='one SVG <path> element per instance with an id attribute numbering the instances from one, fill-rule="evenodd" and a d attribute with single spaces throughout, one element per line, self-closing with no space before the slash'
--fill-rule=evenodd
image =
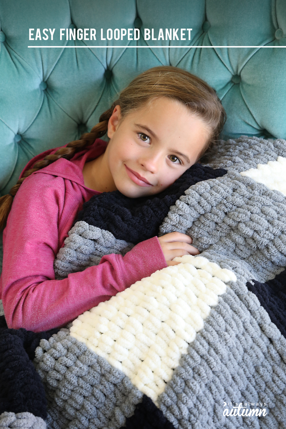
<path id="1" fill-rule="evenodd" d="M 76 222 L 64 243 L 54 261 L 56 278 L 65 278 L 71 272 L 98 265 L 103 255 L 115 253 L 124 256 L 134 246 L 84 221 Z"/>

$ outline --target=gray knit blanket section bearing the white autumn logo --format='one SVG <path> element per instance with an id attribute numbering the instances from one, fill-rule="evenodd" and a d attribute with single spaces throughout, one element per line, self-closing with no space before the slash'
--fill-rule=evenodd
<path id="1" fill-rule="evenodd" d="M 202 256 L 222 268 L 234 269 L 238 281 L 229 283 L 212 308 L 204 329 L 159 396 L 159 406 L 180 429 L 285 428 L 286 340 L 248 291 L 239 274 L 244 270 L 236 261 L 222 261 L 207 252 Z M 224 417 L 224 401 L 265 402 L 259 409 L 265 408 L 268 414 Z"/>

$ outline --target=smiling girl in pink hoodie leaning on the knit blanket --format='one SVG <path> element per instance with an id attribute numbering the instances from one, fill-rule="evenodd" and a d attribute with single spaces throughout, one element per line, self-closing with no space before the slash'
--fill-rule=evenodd
<path id="1" fill-rule="evenodd" d="M 1 198 L 4 223 L 17 193 L 3 233 L 0 291 L 8 326 L 35 332 L 65 326 L 176 264 L 173 258 L 198 254 L 189 236 L 171 233 L 63 280 L 54 277 L 54 258 L 84 202 L 113 190 L 131 198 L 165 190 L 218 139 L 225 118 L 215 91 L 201 79 L 155 67 L 120 93 L 90 133 L 33 158 Z M 105 133 L 108 144 L 99 139 Z"/>

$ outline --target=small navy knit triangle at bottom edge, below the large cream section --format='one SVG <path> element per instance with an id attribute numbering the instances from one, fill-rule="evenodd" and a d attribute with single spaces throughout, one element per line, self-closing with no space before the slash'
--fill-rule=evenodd
<path id="1" fill-rule="evenodd" d="M 154 402 L 143 395 L 143 400 L 136 405 L 134 414 L 126 419 L 125 426 L 120 429 L 175 429 L 175 427 L 164 417 Z"/>

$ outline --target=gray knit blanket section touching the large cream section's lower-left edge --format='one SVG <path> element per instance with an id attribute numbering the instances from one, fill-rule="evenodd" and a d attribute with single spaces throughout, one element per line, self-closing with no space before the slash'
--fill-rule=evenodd
<path id="1" fill-rule="evenodd" d="M 42 339 L 34 363 L 45 386 L 48 428 L 117 429 L 141 402 L 129 378 L 68 329 Z"/>

